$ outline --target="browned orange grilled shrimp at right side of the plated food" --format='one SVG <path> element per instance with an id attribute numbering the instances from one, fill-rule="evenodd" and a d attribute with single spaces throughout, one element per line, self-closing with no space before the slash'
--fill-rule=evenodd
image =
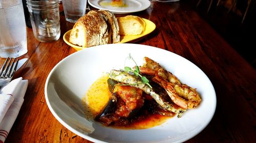
<path id="1" fill-rule="evenodd" d="M 182 84 L 180 80 L 172 73 L 166 71 L 158 63 L 150 58 L 144 58 L 145 64 L 140 67 L 143 74 L 153 75 L 153 81 L 163 87 L 173 102 L 185 109 L 196 108 L 201 98 L 196 89 Z"/>

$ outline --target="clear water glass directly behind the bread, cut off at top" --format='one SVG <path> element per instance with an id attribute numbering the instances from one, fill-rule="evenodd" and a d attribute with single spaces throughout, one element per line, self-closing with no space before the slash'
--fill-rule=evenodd
<path id="1" fill-rule="evenodd" d="M 86 14 L 86 0 L 62 0 L 66 20 L 75 23 L 81 16 Z"/>

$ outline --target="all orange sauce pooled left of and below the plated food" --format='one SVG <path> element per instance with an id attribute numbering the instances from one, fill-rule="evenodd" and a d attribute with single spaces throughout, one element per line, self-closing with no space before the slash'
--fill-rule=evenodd
<path id="1" fill-rule="evenodd" d="M 99 77 L 89 88 L 86 96 L 83 98 L 83 105 L 86 112 L 90 112 L 93 117 L 96 117 L 100 111 L 102 111 L 105 105 L 109 101 L 111 93 L 108 88 L 108 75 L 104 74 Z M 131 123 L 124 126 L 110 126 L 119 129 L 147 129 L 163 124 L 170 116 L 162 116 L 157 113 L 144 113 L 146 109 L 139 112 L 139 115 L 135 119 L 131 120 Z M 86 113 L 88 115 L 88 113 Z"/>

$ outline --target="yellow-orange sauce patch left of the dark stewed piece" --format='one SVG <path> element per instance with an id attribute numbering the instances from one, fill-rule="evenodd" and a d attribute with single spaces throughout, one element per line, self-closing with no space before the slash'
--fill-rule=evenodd
<path id="1" fill-rule="evenodd" d="M 89 88 L 86 96 L 83 98 L 83 105 L 86 112 L 90 112 L 93 117 L 98 115 L 100 111 L 108 103 L 111 93 L 108 88 L 108 75 L 104 74 L 99 77 Z M 86 115 L 87 115 L 86 113 Z"/>

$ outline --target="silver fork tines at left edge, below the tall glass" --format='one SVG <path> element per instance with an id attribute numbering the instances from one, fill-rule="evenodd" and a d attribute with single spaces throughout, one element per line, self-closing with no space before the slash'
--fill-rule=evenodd
<path id="1" fill-rule="evenodd" d="M 12 77 L 14 73 L 16 72 L 17 65 L 18 65 L 18 59 L 14 58 L 7 58 L 4 65 L 2 66 L 0 70 L 0 90 L 4 88 L 7 84 L 9 84 L 12 80 Z M 9 60 L 9 62 L 8 62 Z M 15 63 L 16 60 L 16 63 Z M 15 65 L 14 65 L 15 63 Z M 10 66 L 11 65 L 11 66 Z"/>

